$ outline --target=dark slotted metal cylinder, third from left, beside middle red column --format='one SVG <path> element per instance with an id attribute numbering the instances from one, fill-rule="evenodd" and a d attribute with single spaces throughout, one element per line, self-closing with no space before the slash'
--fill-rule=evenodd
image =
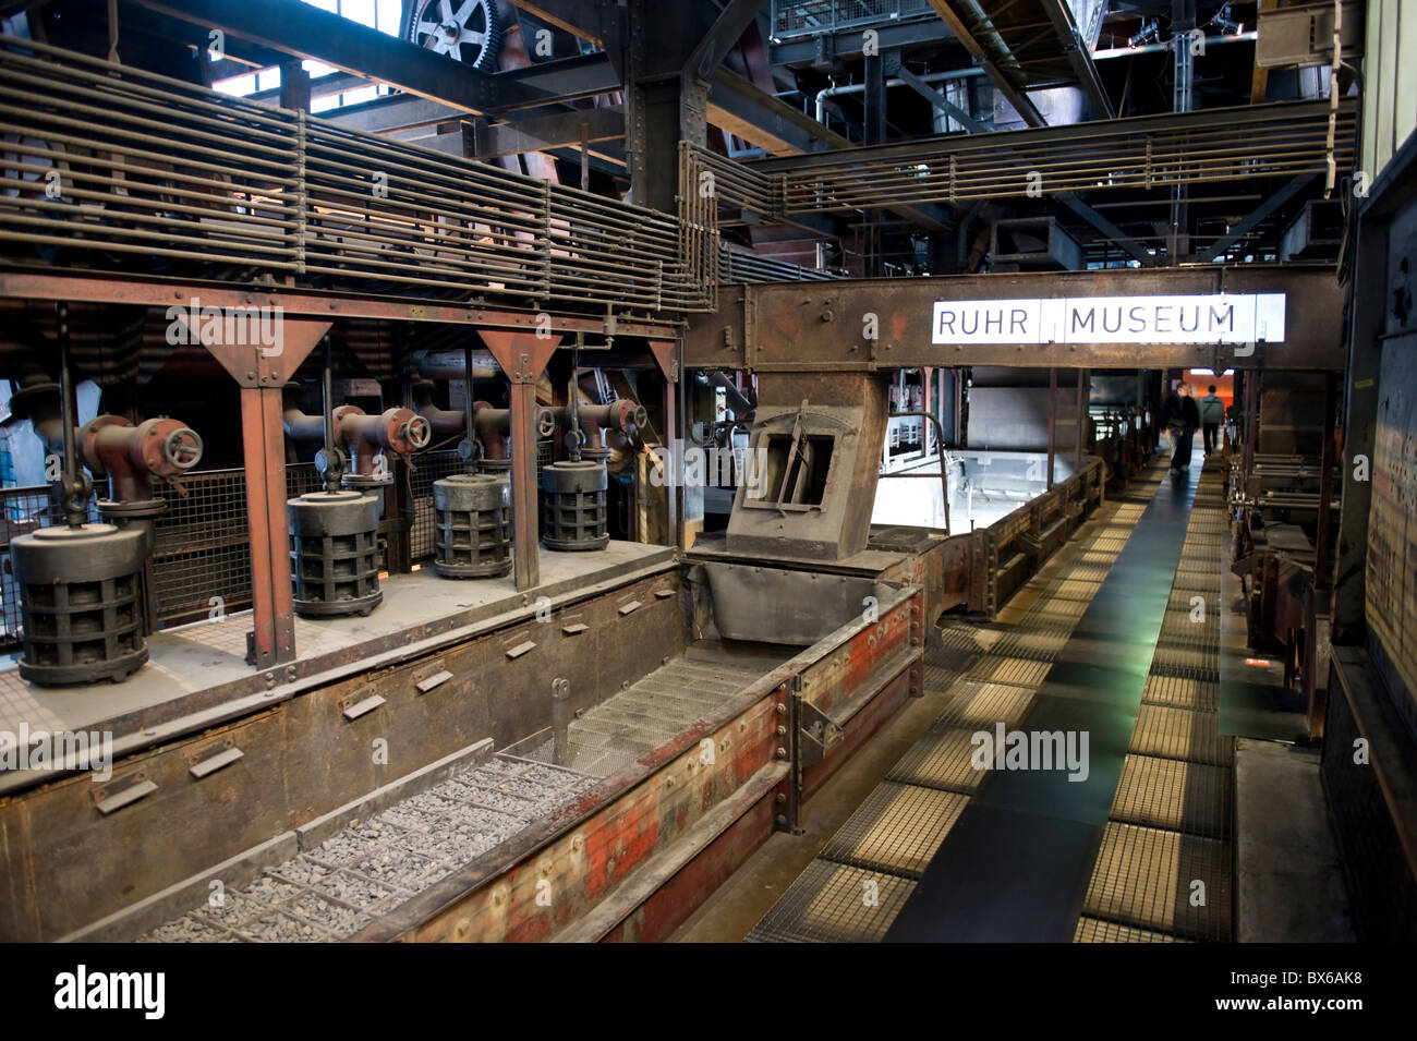
<path id="1" fill-rule="evenodd" d="M 434 482 L 434 571 L 444 578 L 496 578 L 512 569 L 512 483 L 458 473 Z"/>

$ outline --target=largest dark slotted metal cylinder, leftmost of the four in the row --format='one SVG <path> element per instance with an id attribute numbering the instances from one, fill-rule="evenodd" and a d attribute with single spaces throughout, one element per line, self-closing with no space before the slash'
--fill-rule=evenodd
<path id="1" fill-rule="evenodd" d="M 128 678 L 147 660 L 140 528 L 41 528 L 10 542 L 24 618 L 20 676 L 41 687 Z"/>

